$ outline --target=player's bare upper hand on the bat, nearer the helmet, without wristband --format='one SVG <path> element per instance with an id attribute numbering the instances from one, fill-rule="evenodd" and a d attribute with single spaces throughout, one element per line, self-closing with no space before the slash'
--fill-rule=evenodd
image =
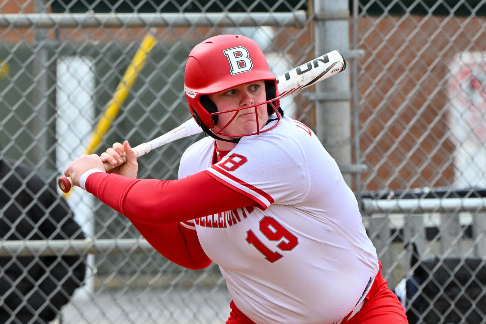
<path id="1" fill-rule="evenodd" d="M 123 163 L 123 153 L 126 156 L 126 163 Z M 101 161 L 103 163 L 108 162 L 113 167 L 116 167 L 108 171 L 108 173 L 116 173 L 128 178 L 137 178 L 137 172 L 139 171 L 137 154 L 130 147 L 128 141 L 124 141 L 123 144 L 113 144 L 112 147 L 101 154 Z"/>

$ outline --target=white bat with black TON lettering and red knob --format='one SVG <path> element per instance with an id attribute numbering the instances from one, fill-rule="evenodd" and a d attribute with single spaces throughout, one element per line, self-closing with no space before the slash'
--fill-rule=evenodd
<path id="1" fill-rule="evenodd" d="M 327 79 L 346 68 L 346 61 L 339 51 L 331 51 L 327 54 L 314 58 L 301 66 L 293 68 L 277 77 L 278 99 L 294 94 L 314 83 Z M 189 119 L 172 131 L 159 136 L 149 142 L 142 143 L 133 148 L 137 157 L 149 153 L 159 146 L 173 142 L 176 139 L 201 133 L 203 130 L 196 124 L 194 119 Z M 126 157 L 123 156 L 123 162 Z M 104 168 L 110 171 L 116 167 L 105 162 Z M 69 192 L 73 186 L 70 177 L 60 177 L 58 180 L 59 188 L 63 192 Z"/>

